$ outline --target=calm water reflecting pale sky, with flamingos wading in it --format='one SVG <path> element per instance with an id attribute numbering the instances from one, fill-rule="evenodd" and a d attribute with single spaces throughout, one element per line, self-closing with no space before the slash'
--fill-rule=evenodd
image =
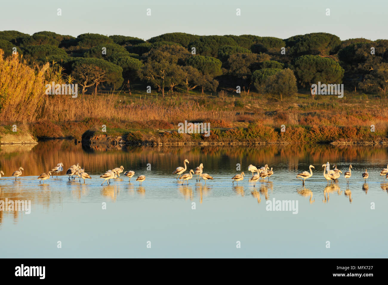
<path id="1" fill-rule="evenodd" d="M 188 169 L 202 162 L 214 180 L 205 186 L 194 176 L 181 185 L 171 173 L 184 159 Z M 348 187 L 343 176 L 327 186 L 321 168 L 327 161 L 343 172 L 352 164 Z M 59 162 L 65 169 L 58 178 L 40 184 L 38 175 Z M 92 180 L 68 180 L 66 169 L 77 163 Z M 254 189 L 248 165 L 266 163 L 274 175 Z M 387 163 L 388 149 L 371 146 L 92 151 L 66 140 L 2 146 L 0 200 L 31 200 L 31 213 L 0 211 L 0 257 L 387 257 L 388 183 L 379 176 Z M 241 172 L 237 164 L 246 173 L 238 186 L 230 179 Z M 303 187 L 296 174 L 310 164 L 314 174 Z M 131 182 L 121 176 L 101 186 L 100 174 L 121 165 L 135 171 Z M 9 176 L 19 166 L 25 171 L 15 181 Z M 142 187 L 135 181 L 140 174 Z M 298 201 L 298 213 L 267 211 L 273 199 Z"/>

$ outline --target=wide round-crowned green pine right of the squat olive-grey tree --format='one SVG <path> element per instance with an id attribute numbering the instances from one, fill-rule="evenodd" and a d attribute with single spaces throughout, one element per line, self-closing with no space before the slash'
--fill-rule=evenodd
<path id="1" fill-rule="evenodd" d="M 302 86 L 311 83 L 339 84 L 342 82 L 344 69 L 333 59 L 319 55 L 302 55 L 295 60 L 294 71 Z M 315 94 L 312 94 L 314 98 Z"/>

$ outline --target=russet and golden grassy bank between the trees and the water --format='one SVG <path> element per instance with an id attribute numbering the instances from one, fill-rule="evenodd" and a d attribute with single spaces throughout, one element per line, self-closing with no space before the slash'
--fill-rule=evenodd
<path id="1" fill-rule="evenodd" d="M 227 96 L 221 98 L 197 91 L 187 96 L 178 90 L 161 98 L 158 93 L 146 94 L 139 89 L 135 86 L 132 96 L 123 91 L 79 96 L 79 101 L 69 101 L 77 102 L 75 105 L 61 106 L 61 100 L 53 98 L 55 107 L 65 114 L 71 111 L 74 119 L 47 116 L 29 123 L 29 128 L 39 138 L 80 137 L 86 130 L 95 130 L 97 134 L 126 135 L 140 141 L 157 142 L 160 138 L 165 143 L 378 142 L 387 136 L 388 106 L 384 98 L 374 95 L 345 92 L 343 98 L 320 95 L 312 100 L 308 93 L 299 93 L 279 102 L 255 92 L 241 96 L 227 90 Z M 184 120 L 210 123 L 211 135 L 159 134 L 159 130 L 177 130 Z M 371 124 L 375 132 L 370 131 Z M 106 125 L 106 132 L 101 132 L 102 125 Z"/>

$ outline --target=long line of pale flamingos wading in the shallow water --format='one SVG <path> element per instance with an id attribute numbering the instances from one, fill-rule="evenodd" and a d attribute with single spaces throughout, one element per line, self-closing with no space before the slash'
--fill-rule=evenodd
<path id="1" fill-rule="evenodd" d="M 189 180 L 193 178 L 193 175 L 197 175 L 197 181 L 198 181 L 198 175 L 199 175 L 199 181 L 201 181 L 201 178 L 202 178 L 203 180 L 205 180 L 205 184 L 206 184 L 206 180 L 213 180 L 213 177 L 211 177 L 209 174 L 203 173 L 203 164 L 202 163 L 199 164 L 199 166 L 195 170 L 190 169 L 188 174 L 187 173 L 183 174 L 187 170 L 186 162 L 187 162 L 187 164 L 189 164 L 189 161 L 187 159 L 185 159 L 183 162 L 185 167 L 179 166 L 179 167 L 177 167 L 177 169 L 175 169 L 173 171 L 172 174 L 178 174 L 177 179 L 182 180 L 183 183 L 184 183 L 184 180 L 187 181 L 187 185 L 189 185 Z M 301 180 L 303 182 L 303 185 L 305 185 L 306 179 L 310 178 L 313 175 L 312 168 L 315 169 L 315 167 L 313 165 L 310 165 L 309 166 L 310 172 L 303 171 L 302 173 L 299 173 L 296 176 L 296 178 L 298 178 L 299 180 Z M 322 168 L 324 168 L 323 169 L 323 177 L 327 180 L 327 185 L 329 184 L 329 181 L 331 181 L 331 183 L 333 183 L 333 181 L 338 180 L 338 178 L 340 178 L 341 174 L 343 174 L 342 171 L 337 168 L 336 164 L 334 164 L 333 169 L 330 169 L 330 164 L 329 164 L 329 162 L 327 162 L 326 164 L 322 164 Z M 351 170 L 352 168 L 353 168 L 352 164 L 350 164 L 348 171 L 345 171 L 345 173 L 344 173 L 344 177 L 346 178 L 347 184 L 349 184 L 349 178 L 352 176 L 352 170 Z M 274 171 L 272 169 L 273 169 L 272 167 L 271 167 L 271 169 L 269 169 L 268 164 L 265 164 L 265 166 L 263 166 L 262 168 L 259 168 L 259 169 L 256 168 L 255 166 L 253 166 L 252 164 L 250 164 L 248 166 L 248 171 L 252 172 L 252 177 L 251 177 L 251 179 L 249 179 L 249 181 L 253 182 L 253 187 L 256 187 L 257 181 L 261 180 L 261 182 L 263 183 L 264 179 L 266 177 L 268 177 L 268 180 L 269 180 L 269 178 L 274 174 Z M 12 177 L 15 177 L 15 181 L 16 181 L 17 177 L 22 175 L 22 171 L 24 171 L 23 167 L 19 167 L 18 170 L 16 170 L 14 173 L 12 173 Z M 62 162 L 58 163 L 55 168 L 51 169 L 51 171 L 48 172 L 48 174 L 46 174 L 46 173 L 40 174 L 38 177 L 38 179 L 40 180 L 39 183 L 41 183 L 42 180 L 44 181 L 44 180 L 49 179 L 50 176 L 54 176 L 54 173 L 56 173 L 57 174 L 56 176 L 58 177 L 58 173 L 61 171 L 63 171 L 63 163 Z M 122 173 L 123 171 L 124 171 L 123 166 L 106 171 L 104 174 L 102 174 L 100 176 L 100 178 L 104 179 L 104 182 L 102 182 L 101 185 L 103 185 L 105 183 L 105 181 L 109 185 L 111 183 L 111 179 L 116 179 L 116 178 L 120 177 L 120 173 Z M 255 172 L 256 172 L 256 174 L 254 174 Z M 0 171 L 0 178 L 2 177 L 2 175 L 4 176 L 4 172 Z M 78 163 L 77 163 L 77 165 L 74 164 L 73 166 L 71 166 L 66 171 L 66 175 L 69 176 L 69 180 L 71 178 L 73 180 L 75 180 L 75 178 L 78 176 L 80 178 L 79 181 L 81 181 L 81 179 L 83 179 L 83 183 L 85 183 L 85 179 L 92 179 L 90 177 L 90 175 L 85 172 L 85 169 L 81 168 L 81 166 Z M 133 171 L 133 170 L 124 172 L 124 176 L 128 177 L 129 181 L 131 181 L 131 178 L 134 175 L 135 175 L 135 171 Z M 238 181 L 243 180 L 244 176 L 245 176 L 244 172 L 241 172 L 241 174 L 236 174 L 235 176 L 233 176 L 232 177 L 233 185 L 234 185 L 235 181 L 238 185 Z M 388 165 L 387 165 L 387 168 L 384 168 L 383 170 L 380 171 L 380 176 L 383 176 L 384 180 L 385 180 L 385 178 L 388 179 Z M 368 173 L 367 169 L 365 169 L 365 172 L 362 173 L 362 178 L 364 179 L 365 182 L 366 182 L 367 178 L 369 178 L 369 173 Z M 139 181 L 139 185 L 142 185 L 142 182 L 144 180 L 145 180 L 144 175 L 140 175 L 138 178 L 136 178 L 136 181 Z M 182 185 L 183 185 L 183 183 L 182 183 Z"/>

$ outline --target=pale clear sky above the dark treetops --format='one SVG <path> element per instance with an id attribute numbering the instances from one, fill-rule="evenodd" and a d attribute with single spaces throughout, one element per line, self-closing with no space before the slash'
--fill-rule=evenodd
<path id="1" fill-rule="evenodd" d="M 163 3 L 163 5 L 161 5 Z M 163 33 L 288 38 L 313 32 L 388 39 L 388 0 L 19 0 L 2 1 L 0 31 L 136 36 Z M 57 16 L 57 9 L 62 16 Z M 151 16 L 146 9 L 151 9 Z M 236 16 L 236 9 L 241 16 Z M 326 9 L 330 16 L 326 16 Z"/>

